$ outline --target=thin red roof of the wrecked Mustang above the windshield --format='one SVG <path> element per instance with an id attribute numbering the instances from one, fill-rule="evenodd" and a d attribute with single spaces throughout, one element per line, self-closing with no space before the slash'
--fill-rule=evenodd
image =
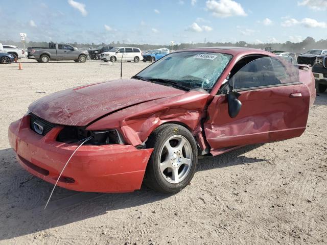
<path id="1" fill-rule="evenodd" d="M 213 52 L 213 53 L 223 53 L 223 54 L 230 54 L 233 56 L 239 56 L 239 55 L 246 55 L 246 54 L 259 54 L 259 55 L 267 55 L 272 56 L 273 54 L 260 50 L 257 48 L 251 48 L 251 47 L 229 47 L 229 46 L 221 46 L 221 47 L 193 47 L 188 48 L 184 50 L 179 50 L 176 52 Z"/>

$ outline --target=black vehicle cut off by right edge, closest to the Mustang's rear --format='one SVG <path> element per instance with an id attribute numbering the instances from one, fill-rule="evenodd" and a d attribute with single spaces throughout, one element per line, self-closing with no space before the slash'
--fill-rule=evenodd
<path id="1" fill-rule="evenodd" d="M 315 77 L 317 92 L 323 93 L 327 89 L 327 55 L 316 58 L 312 73 Z"/>

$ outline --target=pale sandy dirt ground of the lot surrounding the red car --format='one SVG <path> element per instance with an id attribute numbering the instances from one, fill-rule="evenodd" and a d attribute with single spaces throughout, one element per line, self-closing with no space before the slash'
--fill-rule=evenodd
<path id="1" fill-rule="evenodd" d="M 0 65 L 0 244 L 326 244 L 327 93 L 299 138 L 204 157 L 175 195 L 57 187 L 22 169 L 7 129 L 41 96 L 120 77 L 119 63 Z M 123 63 L 128 78 L 149 63 Z M 44 93 L 45 92 L 45 93 Z"/>

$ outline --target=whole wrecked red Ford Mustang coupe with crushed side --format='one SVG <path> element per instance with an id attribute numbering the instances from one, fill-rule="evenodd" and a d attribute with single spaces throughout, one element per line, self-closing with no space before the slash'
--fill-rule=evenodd
<path id="1" fill-rule="evenodd" d="M 131 79 L 67 89 L 9 127 L 17 160 L 67 189 L 175 193 L 198 156 L 300 136 L 316 96 L 312 72 L 251 48 L 182 50 Z"/>

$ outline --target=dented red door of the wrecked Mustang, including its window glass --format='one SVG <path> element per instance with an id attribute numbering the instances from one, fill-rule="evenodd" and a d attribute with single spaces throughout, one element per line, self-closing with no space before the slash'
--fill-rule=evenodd
<path id="1" fill-rule="evenodd" d="M 241 95 L 238 115 L 228 114 L 227 84 Z M 277 57 L 255 59 L 236 72 L 207 109 L 206 139 L 212 151 L 300 136 L 306 129 L 310 92 L 297 66 Z"/>

